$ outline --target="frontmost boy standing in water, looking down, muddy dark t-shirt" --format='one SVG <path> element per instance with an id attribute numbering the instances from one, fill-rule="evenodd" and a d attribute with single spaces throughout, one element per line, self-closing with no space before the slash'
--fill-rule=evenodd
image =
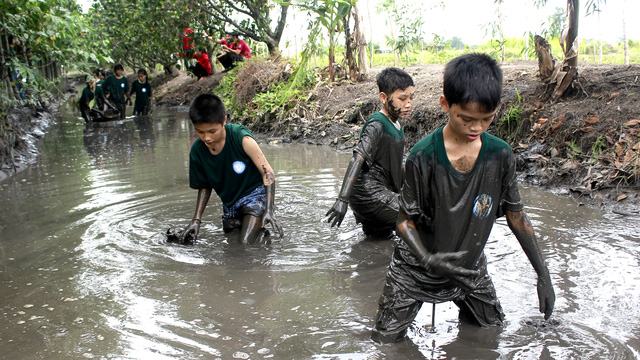
<path id="1" fill-rule="evenodd" d="M 444 128 L 409 152 L 400 193 L 396 244 L 372 339 L 400 341 L 423 302 L 453 301 L 461 321 L 502 325 L 504 314 L 487 273 L 484 246 L 506 215 L 538 275 L 540 312 L 551 316 L 549 271 L 523 212 L 511 147 L 485 131 L 502 93 L 502 71 L 486 55 L 449 62 L 440 105 Z"/>

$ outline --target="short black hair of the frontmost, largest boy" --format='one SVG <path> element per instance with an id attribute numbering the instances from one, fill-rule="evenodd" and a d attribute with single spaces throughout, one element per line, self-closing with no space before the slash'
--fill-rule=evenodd
<path id="1" fill-rule="evenodd" d="M 477 103 L 483 111 L 493 111 L 502 96 L 502 70 L 486 54 L 458 56 L 444 69 L 443 93 L 449 106 Z"/>

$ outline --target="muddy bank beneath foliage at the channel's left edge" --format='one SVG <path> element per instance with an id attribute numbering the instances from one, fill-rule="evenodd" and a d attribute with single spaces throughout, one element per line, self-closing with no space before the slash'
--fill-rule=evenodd
<path id="1" fill-rule="evenodd" d="M 84 76 L 61 82 L 58 93 L 38 101 L 38 105 L 17 106 L 7 110 L 0 131 L 0 181 L 33 164 L 39 154 L 38 143 L 55 121 L 58 108 L 75 94 Z"/>

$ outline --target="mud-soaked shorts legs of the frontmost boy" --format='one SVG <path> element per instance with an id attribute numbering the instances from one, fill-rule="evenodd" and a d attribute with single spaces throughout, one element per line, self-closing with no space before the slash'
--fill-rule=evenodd
<path id="1" fill-rule="evenodd" d="M 501 326 L 504 314 L 496 297 L 491 278 L 487 275 L 478 287 L 462 299 L 454 300 L 460 308 L 460 321 L 479 326 Z M 378 314 L 371 339 L 377 342 L 398 342 L 418 315 L 423 302 L 407 295 L 387 276 L 378 301 Z"/>

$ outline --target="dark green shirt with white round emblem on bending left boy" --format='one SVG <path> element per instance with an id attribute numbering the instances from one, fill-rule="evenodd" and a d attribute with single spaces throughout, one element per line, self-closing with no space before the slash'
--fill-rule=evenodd
<path id="1" fill-rule="evenodd" d="M 213 155 L 209 148 L 197 139 L 189 154 L 189 186 L 193 189 L 214 189 L 226 206 L 263 186 L 262 176 L 251 158 L 242 148 L 245 136 L 253 138 L 247 128 L 238 124 L 224 126 L 224 148 Z"/>

